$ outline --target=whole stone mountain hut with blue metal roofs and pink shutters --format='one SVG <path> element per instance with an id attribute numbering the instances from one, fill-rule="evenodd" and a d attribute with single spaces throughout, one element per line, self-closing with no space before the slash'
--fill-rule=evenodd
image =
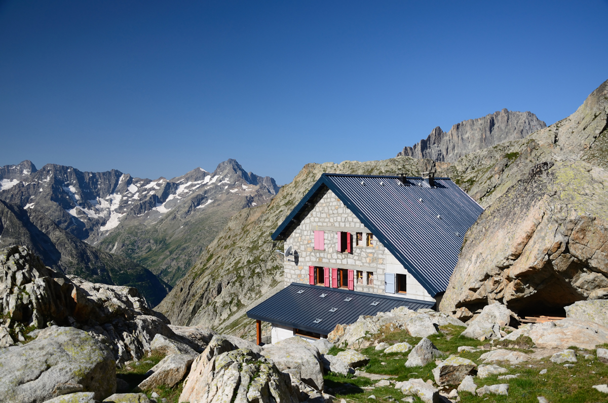
<path id="1" fill-rule="evenodd" d="M 434 307 L 483 209 L 449 178 L 323 173 L 272 234 L 291 254 L 285 289 L 247 316 L 272 342 L 326 337 L 397 306 Z M 258 326 L 259 329 L 259 326 Z"/>

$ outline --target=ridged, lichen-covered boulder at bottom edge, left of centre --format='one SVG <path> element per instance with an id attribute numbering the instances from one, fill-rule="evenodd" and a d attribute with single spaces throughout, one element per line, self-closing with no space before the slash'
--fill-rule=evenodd
<path id="1" fill-rule="evenodd" d="M 222 351 L 234 346 L 225 338 L 215 339 L 193 362 L 179 402 L 299 402 L 290 374 L 249 349 Z"/>

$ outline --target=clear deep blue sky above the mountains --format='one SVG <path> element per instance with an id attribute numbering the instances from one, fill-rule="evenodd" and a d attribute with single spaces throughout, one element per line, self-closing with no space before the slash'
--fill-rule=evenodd
<path id="1" fill-rule="evenodd" d="M 167 178 L 396 155 L 608 79 L 608 1 L 0 1 L 0 166 Z"/>

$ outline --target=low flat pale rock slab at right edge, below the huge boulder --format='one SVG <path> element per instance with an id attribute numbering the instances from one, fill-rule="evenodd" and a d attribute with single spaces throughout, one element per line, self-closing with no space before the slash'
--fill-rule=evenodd
<path id="1" fill-rule="evenodd" d="M 555 322 L 525 324 L 503 340 L 516 340 L 521 335 L 530 337 L 539 348 L 566 349 L 576 346 L 593 349 L 606 343 L 608 328 L 586 320 L 565 318 Z"/>

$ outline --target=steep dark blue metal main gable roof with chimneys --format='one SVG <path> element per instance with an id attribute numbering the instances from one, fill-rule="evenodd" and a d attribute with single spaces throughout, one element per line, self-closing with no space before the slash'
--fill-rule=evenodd
<path id="1" fill-rule="evenodd" d="M 483 212 L 449 178 L 435 178 L 431 187 L 423 178 L 407 177 L 403 184 L 396 176 L 323 173 L 272 239 L 287 239 L 327 189 L 432 296 L 446 290 L 463 236 Z"/>

